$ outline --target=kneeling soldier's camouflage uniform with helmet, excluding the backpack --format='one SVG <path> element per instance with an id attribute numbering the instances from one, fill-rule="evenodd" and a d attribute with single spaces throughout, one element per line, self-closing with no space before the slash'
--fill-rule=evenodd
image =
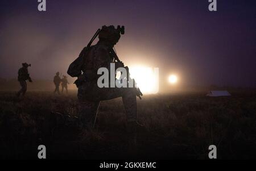
<path id="1" fill-rule="evenodd" d="M 106 26 L 104 26 L 106 28 Z M 102 27 L 102 28 L 104 28 Z M 113 57 L 110 55 L 110 49 L 119 40 L 119 32 L 117 33 L 113 26 L 109 26 L 109 32 L 100 33 L 100 40 L 96 45 L 90 47 L 86 53 L 83 71 L 78 80 L 85 80 L 78 86 L 79 98 L 79 115 L 80 121 L 85 127 L 92 127 L 96 118 L 96 113 L 100 101 L 122 97 L 123 105 L 127 121 L 129 123 L 137 121 L 137 99 L 136 88 L 100 88 L 97 85 L 97 75 L 99 68 L 110 68 L 110 63 L 113 62 Z M 81 54 L 84 54 L 87 49 L 84 48 Z M 118 68 L 119 64 L 116 64 Z"/>

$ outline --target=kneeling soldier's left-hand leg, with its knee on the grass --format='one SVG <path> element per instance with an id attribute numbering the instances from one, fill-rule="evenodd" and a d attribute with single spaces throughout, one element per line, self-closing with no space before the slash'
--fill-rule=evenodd
<path id="1" fill-rule="evenodd" d="M 93 128 L 98 105 L 98 101 L 79 100 L 78 113 L 80 124 L 83 128 Z"/>

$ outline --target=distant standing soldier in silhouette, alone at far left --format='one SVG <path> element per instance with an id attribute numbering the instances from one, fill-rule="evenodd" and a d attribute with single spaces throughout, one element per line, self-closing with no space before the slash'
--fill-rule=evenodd
<path id="1" fill-rule="evenodd" d="M 25 95 L 25 93 L 27 91 L 27 82 L 26 81 L 28 80 L 29 82 L 32 82 L 32 80 L 30 78 L 30 74 L 28 74 L 28 69 L 27 69 L 28 66 L 31 66 L 31 64 L 22 63 L 22 68 L 20 68 L 18 71 L 18 81 L 21 86 L 21 89 L 16 94 L 18 97 L 21 94 L 23 96 Z"/>

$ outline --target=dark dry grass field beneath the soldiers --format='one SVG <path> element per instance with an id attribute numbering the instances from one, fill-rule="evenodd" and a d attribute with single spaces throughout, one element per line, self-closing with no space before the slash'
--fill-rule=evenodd
<path id="1" fill-rule="evenodd" d="M 0 158 L 38 159 L 256 159 L 256 96 L 205 93 L 144 95 L 138 101 L 137 144 L 129 145 L 121 98 L 101 102 L 94 130 L 56 124 L 54 112 L 76 116 L 77 97 L 30 91 L 23 99 L 0 93 Z"/>

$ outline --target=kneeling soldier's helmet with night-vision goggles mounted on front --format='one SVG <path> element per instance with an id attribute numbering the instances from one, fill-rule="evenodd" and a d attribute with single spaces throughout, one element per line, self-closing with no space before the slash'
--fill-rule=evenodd
<path id="1" fill-rule="evenodd" d="M 115 29 L 114 26 L 102 26 L 101 31 L 98 34 L 100 40 L 108 40 L 112 44 L 116 44 L 120 39 L 120 34 L 124 34 L 124 27 L 122 30 L 120 26 Z"/>

